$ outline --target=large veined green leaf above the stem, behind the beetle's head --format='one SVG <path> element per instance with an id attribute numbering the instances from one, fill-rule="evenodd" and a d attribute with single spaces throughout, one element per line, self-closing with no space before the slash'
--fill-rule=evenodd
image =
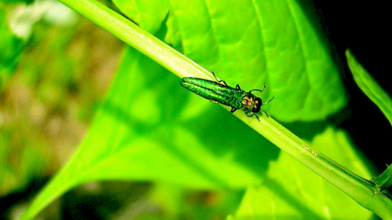
<path id="1" fill-rule="evenodd" d="M 161 2 L 148 3 L 148 10 L 140 0 L 122 0 L 118 6 L 132 8 L 127 15 L 150 27 L 163 22 L 167 2 Z M 276 118 L 318 120 L 345 105 L 328 45 L 296 0 L 169 0 L 169 5 L 165 40 L 174 45 L 181 41 L 185 55 L 229 85 L 250 89 L 266 82 L 264 97 L 275 96 L 266 108 Z"/>

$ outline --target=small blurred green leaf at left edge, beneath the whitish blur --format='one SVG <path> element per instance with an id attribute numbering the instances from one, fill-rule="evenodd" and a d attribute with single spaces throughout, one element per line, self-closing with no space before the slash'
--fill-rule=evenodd
<path id="1" fill-rule="evenodd" d="M 12 75 L 22 56 L 25 43 L 8 27 L 5 10 L 0 5 L 0 86 L 1 78 Z"/>

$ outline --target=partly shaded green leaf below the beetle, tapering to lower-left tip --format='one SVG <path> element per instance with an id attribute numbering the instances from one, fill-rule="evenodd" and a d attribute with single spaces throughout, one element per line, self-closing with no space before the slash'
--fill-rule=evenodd
<path id="1" fill-rule="evenodd" d="M 127 49 L 108 98 L 68 164 L 35 199 L 24 219 L 75 185 L 91 180 L 162 180 L 195 189 L 256 185 L 278 150 L 179 79 Z M 195 119 L 188 98 L 205 105 Z M 180 117 L 180 115 L 187 115 Z M 224 123 L 222 123 L 224 122 Z M 236 136 L 236 139 L 229 137 Z"/>

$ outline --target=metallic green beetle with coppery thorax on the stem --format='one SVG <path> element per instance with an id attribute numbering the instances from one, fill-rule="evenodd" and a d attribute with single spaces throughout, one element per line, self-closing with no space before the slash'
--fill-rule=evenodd
<path id="1" fill-rule="evenodd" d="M 210 100 L 211 102 L 231 107 L 230 113 L 234 113 L 236 110 L 242 109 L 247 117 L 255 116 L 257 120 L 260 121 L 257 113 L 262 110 L 261 107 L 263 105 L 267 105 L 274 97 L 263 103 L 263 100 L 252 94 L 252 91 L 263 92 L 267 88 L 265 83 L 263 89 L 251 89 L 249 91 L 245 91 L 242 90 L 238 84 L 236 88 L 228 86 L 225 81 L 219 80 L 215 76 L 214 72 L 212 74 L 216 81 L 196 77 L 184 77 L 180 84 L 182 87 Z M 265 110 L 262 111 L 266 113 L 267 117 L 269 117 Z"/>

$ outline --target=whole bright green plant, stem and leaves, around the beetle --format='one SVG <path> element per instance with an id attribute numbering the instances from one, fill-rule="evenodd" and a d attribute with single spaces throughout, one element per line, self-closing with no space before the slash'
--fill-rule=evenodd
<path id="1" fill-rule="evenodd" d="M 127 48 L 124 52 L 112 88 L 90 132 L 73 158 L 35 199 L 24 219 L 36 216 L 70 188 L 97 179 L 164 180 L 196 189 L 251 186 L 238 213 L 230 217 L 236 219 L 263 218 L 276 213 L 302 219 L 344 219 L 347 213 L 337 210 L 345 203 L 349 203 L 346 207 L 350 214 L 358 215 L 354 219 L 369 218 L 367 210 L 356 206 L 350 198 L 318 176 L 306 173 L 302 165 L 286 154 L 279 155 L 277 162 L 271 164 L 266 172 L 266 161 L 274 158 L 276 152 L 268 153 L 268 142 L 254 132 L 244 134 L 245 126 L 234 119 L 229 119 L 224 125 L 217 122 L 209 125 L 211 127 L 206 131 L 211 133 L 206 133 L 203 127 L 189 125 L 200 114 L 208 116 L 197 123 L 199 126 L 209 124 L 207 122 L 212 116 L 217 121 L 226 120 L 222 119 L 226 116 L 222 111 L 207 111 L 209 103 L 194 96 L 188 102 L 188 93 L 179 87 L 179 79 L 168 74 L 167 70 L 179 77 L 212 79 L 209 71 L 198 66 L 196 61 L 219 72 L 219 77 L 229 84 L 261 88 L 265 81 L 270 87 L 267 95 L 280 97 L 267 111 L 272 117 L 285 122 L 315 121 L 337 112 L 346 102 L 339 70 L 328 53 L 327 45 L 295 1 L 274 2 L 273 7 L 270 2 L 263 1 L 250 1 L 247 5 L 232 3 L 230 10 L 223 8 L 219 2 L 204 5 L 195 1 L 192 2 L 195 5 L 190 6 L 190 2 L 183 1 L 170 4 L 166 1 L 135 1 L 139 4 L 114 1 L 125 15 L 182 50 L 192 60 L 97 1 L 60 1 L 136 50 Z M 139 5 L 139 8 L 128 5 Z M 264 10 L 274 7 L 276 11 Z M 220 20 L 220 13 L 231 20 Z M 195 17 L 202 19 L 195 21 Z M 276 21 L 276 17 L 281 20 Z M 161 26 L 162 21 L 167 26 Z M 235 31 L 231 30 L 232 24 L 226 23 L 230 21 L 238 22 Z M 197 25 L 191 25 L 193 22 Z M 287 29 L 282 30 L 282 27 Z M 268 46 L 271 44 L 276 46 Z M 279 55 L 285 50 L 290 53 Z M 349 54 L 348 58 L 353 73 L 366 75 L 362 70 L 355 70 L 360 65 Z M 288 74 L 289 80 L 286 79 Z M 371 80 L 365 82 L 371 82 L 370 87 L 376 86 Z M 174 98 L 167 98 L 174 95 Z M 375 103 L 382 106 L 390 99 L 382 97 L 377 100 Z M 385 106 L 388 107 L 388 103 Z M 388 108 L 381 109 L 389 112 Z M 344 132 L 328 128 L 313 139 L 311 147 L 272 118 L 261 117 L 261 122 L 258 122 L 242 112 L 235 115 L 362 206 L 384 219 L 392 218 L 392 201 L 383 194 L 383 189 L 390 185 L 390 169 L 374 178 L 373 182 L 367 180 L 370 173 L 353 151 Z M 227 129 L 230 123 L 233 123 L 231 136 L 238 140 L 219 143 L 216 133 Z M 249 141 L 244 143 L 244 139 Z M 331 144 L 329 140 L 335 142 Z M 349 170 L 320 152 L 331 155 Z M 338 158 L 342 152 L 349 155 L 349 159 Z M 244 159 L 249 155 L 253 155 L 250 160 Z M 262 155 L 262 159 L 255 155 Z M 294 181 L 302 188 L 294 187 L 291 184 Z M 275 194 L 289 199 L 276 199 Z M 294 204 L 303 197 L 304 200 Z M 333 201 L 317 203 L 319 198 Z M 269 209 L 252 211 L 256 207 L 265 208 L 267 204 L 273 205 Z M 249 207 L 252 209 L 249 210 Z"/>

